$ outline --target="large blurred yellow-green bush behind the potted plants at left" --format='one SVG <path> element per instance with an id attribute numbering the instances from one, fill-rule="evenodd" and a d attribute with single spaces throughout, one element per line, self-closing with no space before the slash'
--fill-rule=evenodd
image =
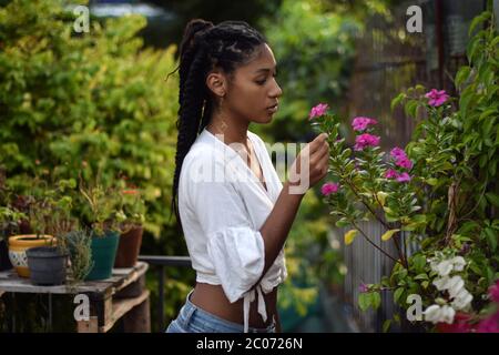
<path id="1" fill-rule="evenodd" d="M 23 192 L 51 171 L 77 179 L 82 165 L 103 180 L 126 176 L 143 191 L 146 231 L 170 230 L 176 78 L 174 47 L 142 50 L 140 17 L 91 21 L 72 32 L 60 1 L 12 1 L 0 9 L 0 164 Z"/>

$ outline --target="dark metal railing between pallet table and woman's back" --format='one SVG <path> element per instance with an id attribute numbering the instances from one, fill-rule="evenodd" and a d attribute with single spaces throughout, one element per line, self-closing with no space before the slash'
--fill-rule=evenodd
<path id="1" fill-rule="evenodd" d="M 159 278 L 159 285 L 157 285 L 157 294 L 159 294 L 159 302 L 157 302 L 157 326 L 159 329 L 164 329 L 164 283 L 165 283 L 165 275 L 164 275 L 164 268 L 165 267 L 191 267 L 191 257 L 189 256 L 161 256 L 161 255 L 139 255 L 139 260 L 141 262 L 145 262 L 150 265 L 157 266 L 157 278 Z"/>

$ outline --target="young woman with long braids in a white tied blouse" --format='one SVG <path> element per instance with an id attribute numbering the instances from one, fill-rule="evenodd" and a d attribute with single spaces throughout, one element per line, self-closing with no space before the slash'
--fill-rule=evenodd
<path id="1" fill-rule="evenodd" d="M 196 285 L 166 332 L 279 332 L 284 244 L 306 190 L 327 174 L 327 135 L 299 152 L 294 178 L 281 183 L 264 142 L 248 131 L 277 111 L 276 61 L 245 22 L 192 20 L 179 70 L 172 209 Z M 294 192 L 305 180 L 306 189 Z"/>

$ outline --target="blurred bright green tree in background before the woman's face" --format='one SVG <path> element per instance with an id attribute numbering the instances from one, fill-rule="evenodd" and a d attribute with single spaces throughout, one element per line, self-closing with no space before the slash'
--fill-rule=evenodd
<path id="1" fill-rule="evenodd" d="M 265 132 L 276 140 L 306 135 L 303 120 L 312 103 L 339 101 L 346 92 L 358 22 L 316 1 L 284 0 L 263 23 L 277 60 L 283 104 Z"/>

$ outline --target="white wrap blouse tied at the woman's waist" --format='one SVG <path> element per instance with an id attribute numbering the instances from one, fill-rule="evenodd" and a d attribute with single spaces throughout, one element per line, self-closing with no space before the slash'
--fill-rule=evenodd
<path id="1" fill-rule="evenodd" d="M 262 139 L 247 132 L 262 166 L 267 190 L 244 159 L 204 129 L 185 155 L 179 180 L 179 212 L 196 281 L 222 285 L 231 303 L 244 297 L 244 332 L 249 304 L 257 296 L 258 313 L 267 320 L 263 293 L 287 276 L 284 247 L 262 281 L 265 264 L 259 229 L 283 184 Z M 256 294 L 255 294 L 256 288 Z"/>

